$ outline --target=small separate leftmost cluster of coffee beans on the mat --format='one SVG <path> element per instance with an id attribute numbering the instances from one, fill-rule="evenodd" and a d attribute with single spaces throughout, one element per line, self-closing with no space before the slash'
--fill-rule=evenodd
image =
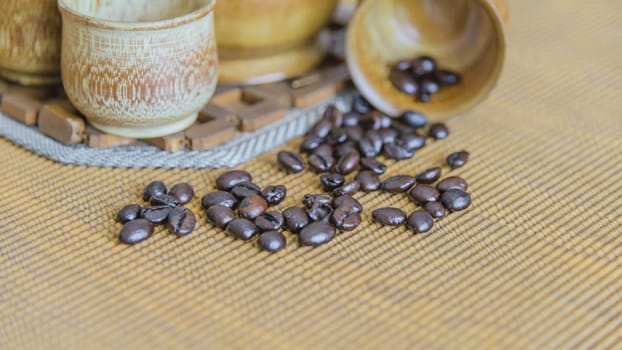
<path id="1" fill-rule="evenodd" d="M 194 198 L 194 188 L 178 183 L 167 190 L 162 181 L 154 181 L 143 191 L 143 200 L 151 206 L 129 204 L 117 213 L 117 220 L 124 224 L 119 240 L 136 244 L 151 237 L 155 225 L 166 225 L 177 236 L 186 236 L 194 230 L 194 213 L 183 207 Z"/>

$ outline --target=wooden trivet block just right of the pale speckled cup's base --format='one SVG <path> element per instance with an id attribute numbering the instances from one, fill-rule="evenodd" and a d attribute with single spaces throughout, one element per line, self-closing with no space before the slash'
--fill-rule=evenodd
<path id="1" fill-rule="evenodd" d="M 190 149 L 205 150 L 225 143 L 237 134 L 236 124 L 226 119 L 216 119 L 207 123 L 195 124 L 186 130 Z"/>

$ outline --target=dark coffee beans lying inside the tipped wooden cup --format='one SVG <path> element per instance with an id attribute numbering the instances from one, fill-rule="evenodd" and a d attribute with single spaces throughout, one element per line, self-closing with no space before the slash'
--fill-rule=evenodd
<path id="1" fill-rule="evenodd" d="M 457 85 L 461 80 L 455 72 L 438 69 L 436 61 L 429 56 L 396 63 L 391 67 L 389 79 L 398 90 L 423 103 L 430 102 L 443 87 Z"/>

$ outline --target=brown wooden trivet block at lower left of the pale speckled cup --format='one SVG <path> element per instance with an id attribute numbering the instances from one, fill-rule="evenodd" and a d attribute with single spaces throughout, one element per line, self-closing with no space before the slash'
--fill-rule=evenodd
<path id="1" fill-rule="evenodd" d="M 64 144 L 81 143 L 86 125 L 84 119 L 57 104 L 46 104 L 39 113 L 39 130 Z"/>

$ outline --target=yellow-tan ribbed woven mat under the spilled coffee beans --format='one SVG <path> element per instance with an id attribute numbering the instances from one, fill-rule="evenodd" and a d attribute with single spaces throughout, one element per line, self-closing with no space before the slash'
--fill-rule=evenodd
<path id="1" fill-rule="evenodd" d="M 364 225 L 275 255 L 200 225 L 117 242 L 114 215 L 162 179 L 222 170 L 63 166 L 0 140 L 1 349 L 559 349 L 622 346 L 622 2 L 510 2 L 499 87 L 389 174 L 472 153 L 468 211 L 429 234 Z M 293 143 L 289 147 L 293 147 Z M 245 164 L 297 204 L 319 191 L 276 151 Z"/>

